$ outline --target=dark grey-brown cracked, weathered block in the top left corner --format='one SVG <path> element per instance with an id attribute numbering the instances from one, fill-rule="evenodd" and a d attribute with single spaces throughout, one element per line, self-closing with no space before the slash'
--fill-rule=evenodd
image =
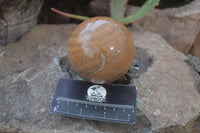
<path id="1" fill-rule="evenodd" d="M 0 0 L 0 45 L 16 42 L 37 24 L 44 0 Z"/>

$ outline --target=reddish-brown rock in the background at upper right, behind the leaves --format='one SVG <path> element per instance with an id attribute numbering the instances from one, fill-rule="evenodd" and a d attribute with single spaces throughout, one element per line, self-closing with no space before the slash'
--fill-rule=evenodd
<path id="1" fill-rule="evenodd" d="M 200 31 L 199 6 L 200 0 L 194 0 L 178 8 L 154 9 L 142 19 L 133 22 L 133 26 L 159 33 L 174 48 L 188 53 Z M 134 11 L 134 7 L 130 7 L 128 14 Z"/>

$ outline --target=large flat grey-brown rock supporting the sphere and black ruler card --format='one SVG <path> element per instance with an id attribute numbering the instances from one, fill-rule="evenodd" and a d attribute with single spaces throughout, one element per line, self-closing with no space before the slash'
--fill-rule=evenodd
<path id="1" fill-rule="evenodd" d="M 136 124 L 50 114 L 58 79 L 79 79 L 66 58 L 75 26 L 39 25 L 18 43 L 0 47 L 0 132 L 200 131 L 199 75 L 160 35 L 131 29 L 136 45 L 132 65 L 140 68 L 127 73 L 138 87 Z"/>

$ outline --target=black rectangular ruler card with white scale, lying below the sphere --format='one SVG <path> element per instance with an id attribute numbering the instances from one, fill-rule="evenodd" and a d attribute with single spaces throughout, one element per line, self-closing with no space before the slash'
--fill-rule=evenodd
<path id="1" fill-rule="evenodd" d="M 50 112 L 84 119 L 135 123 L 136 87 L 59 79 Z"/>

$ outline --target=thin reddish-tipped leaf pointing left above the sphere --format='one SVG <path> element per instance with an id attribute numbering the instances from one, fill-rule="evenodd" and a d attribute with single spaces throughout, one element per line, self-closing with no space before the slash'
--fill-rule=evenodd
<path id="1" fill-rule="evenodd" d="M 74 14 L 70 14 L 70 13 L 65 13 L 65 12 L 62 12 L 62 11 L 57 10 L 55 8 L 51 8 L 51 10 L 53 12 L 57 13 L 57 14 L 60 14 L 60 15 L 64 16 L 64 17 L 69 17 L 69 18 L 78 19 L 78 20 L 82 20 L 82 21 L 89 19 L 89 17 L 80 16 L 80 15 L 74 15 Z"/>

